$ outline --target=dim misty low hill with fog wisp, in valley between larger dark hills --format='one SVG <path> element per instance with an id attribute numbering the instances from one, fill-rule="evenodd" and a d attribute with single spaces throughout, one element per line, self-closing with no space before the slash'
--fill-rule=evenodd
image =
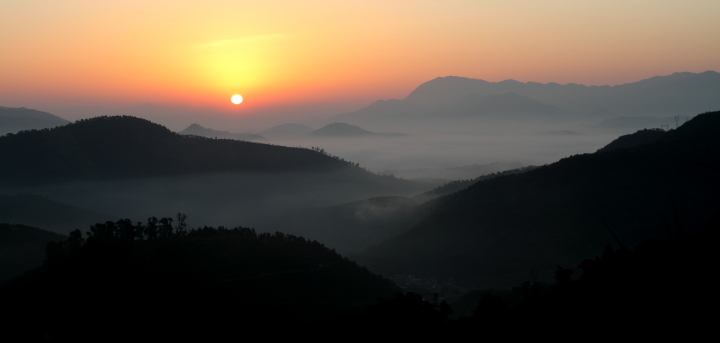
<path id="1" fill-rule="evenodd" d="M 355 254 L 405 232 L 422 220 L 429 208 L 406 197 L 376 197 L 294 211 L 269 227 L 318 240 L 342 254 Z"/>

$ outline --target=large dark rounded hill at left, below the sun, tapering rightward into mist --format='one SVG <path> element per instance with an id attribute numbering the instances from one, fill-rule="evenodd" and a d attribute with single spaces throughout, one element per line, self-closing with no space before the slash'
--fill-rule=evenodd
<path id="1" fill-rule="evenodd" d="M 321 171 L 351 164 L 317 151 L 176 134 L 134 117 L 97 117 L 0 137 L 5 182 L 211 172 Z"/>

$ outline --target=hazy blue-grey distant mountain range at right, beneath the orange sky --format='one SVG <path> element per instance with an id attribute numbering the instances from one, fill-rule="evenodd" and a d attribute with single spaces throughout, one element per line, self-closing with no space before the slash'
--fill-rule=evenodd
<path id="1" fill-rule="evenodd" d="M 437 116 L 514 118 L 610 118 L 690 116 L 720 109 L 720 74 L 674 73 L 617 86 L 488 82 L 438 77 L 402 100 L 380 100 L 336 118 L 353 124 L 390 123 Z"/>

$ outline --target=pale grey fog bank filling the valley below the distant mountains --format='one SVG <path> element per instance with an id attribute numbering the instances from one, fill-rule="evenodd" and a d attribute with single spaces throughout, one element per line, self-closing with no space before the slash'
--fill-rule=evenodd
<path id="1" fill-rule="evenodd" d="M 360 163 L 371 171 L 397 177 L 445 180 L 480 176 L 463 166 L 499 162 L 502 171 L 526 165 L 542 165 L 575 154 L 591 153 L 618 137 L 618 131 L 603 132 L 579 125 L 505 126 L 475 125 L 397 130 L 406 136 L 302 137 L 274 139 L 270 143 L 319 147 L 332 155 Z M 375 132 L 382 132 L 373 130 Z M 386 131 L 387 132 L 387 131 Z M 520 165 L 518 165 L 518 163 Z"/>

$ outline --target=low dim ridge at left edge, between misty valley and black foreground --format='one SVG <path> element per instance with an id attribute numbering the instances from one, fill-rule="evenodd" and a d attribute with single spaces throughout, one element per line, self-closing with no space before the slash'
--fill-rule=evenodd
<path id="1" fill-rule="evenodd" d="M 25 224 L 67 234 L 78 227 L 116 219 L 116 216 L 62 204 L 38 195 L 0 195 L 0 223 Z"/>

